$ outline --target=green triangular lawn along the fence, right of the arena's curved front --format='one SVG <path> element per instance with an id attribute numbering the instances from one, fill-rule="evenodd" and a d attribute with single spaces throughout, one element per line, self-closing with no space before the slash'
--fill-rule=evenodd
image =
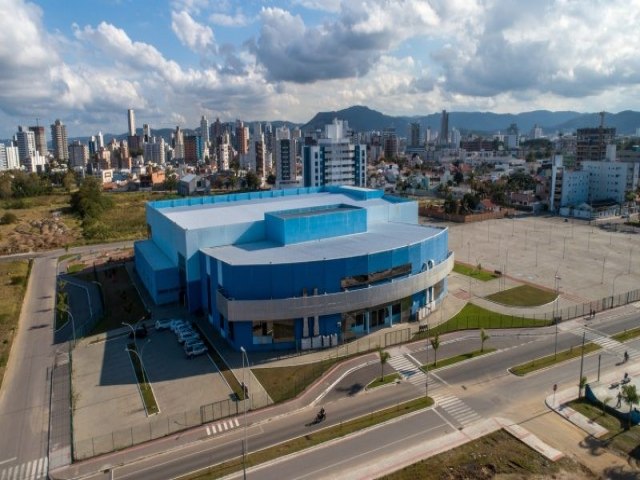
<path id="1" fill-rule="evenodd" d="M 537 320 L 535 318 L 516 317 L 513 315 L 503 315 L 501 313 L 492 312 L 482 307 L 467 303 L 457 315 L 449 319 L 442 325 L 438 325 L 429 330 L 429 332 L 418 332 L 413 339 L 418 340 L 433 336 L 436 333 L 443 334 L 454 332 L 457 330 L 468 329 L 492 329 L 492 328 L 530 328 L 545 327 L 551 325 L 551 320 Z"/>

